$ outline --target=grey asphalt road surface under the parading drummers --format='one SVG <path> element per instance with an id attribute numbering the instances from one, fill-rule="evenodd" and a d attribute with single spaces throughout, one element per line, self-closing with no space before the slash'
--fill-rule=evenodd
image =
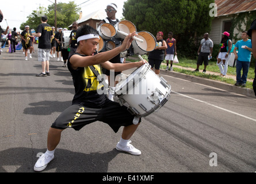
<path id="1" fill-rule="evenodd" d="M 37 53 L 32 56 L 25 61 L 22 51 L 0 55 L 1 173 L 34 172 L 49 127 L 74 95 L 62 62 L 52 58 L 51 76 L 36 77 L 41 63 Z M 55 159 L 44 172 L 254 173 L 255 98 L 164 72 L 162 76 L 171 85 L 171 97 L 158 112 L 143 118 L 131 139 L 142 155 L 117 151 L 121 129 L 114 133 L 94 122 L 78 132 L 63 131 Z"/>

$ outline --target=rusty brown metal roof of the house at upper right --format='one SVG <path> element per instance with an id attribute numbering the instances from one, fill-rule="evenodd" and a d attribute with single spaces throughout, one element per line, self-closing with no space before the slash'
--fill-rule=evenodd
<path id="1" fill-rule="evenodd" d="M 215 0 L 217 16 L 256 10 L 256 0 Z"/>

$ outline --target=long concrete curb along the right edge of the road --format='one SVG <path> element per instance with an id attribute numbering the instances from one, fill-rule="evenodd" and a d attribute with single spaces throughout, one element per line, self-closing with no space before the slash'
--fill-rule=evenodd
<path id="1" fill-rule="evenodd" d="M 246 87 L 239 87 L 239 86 L 230 85 L 228 83 L 224 83 L 220 81 L 213 81 L 211 79 L 200 78 L 198 76 L 181 74 L 175 71 L 165 71 L 163 69 L 160 69 L 160 75 L 161 74 L 174 76 L 174 77 L 185 79 L 191 82 L 201 83 L 203 85 L 217 87 L 223 90 L 232 91 L 234 93 L 243 94 L 243 95 L 255 98 L 254 90 L 248 89 Z"/>

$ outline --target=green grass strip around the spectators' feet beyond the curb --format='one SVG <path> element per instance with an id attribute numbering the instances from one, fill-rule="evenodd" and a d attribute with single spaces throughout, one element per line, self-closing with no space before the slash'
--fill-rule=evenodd
<path id="1" fill-rule="evenodd" d="M 134 55 L 133 57 L 138 58 L 137 60 L 139 60 L 139 57 L 137 57 L 136 55 Z M 143 57 L 143 59 L 147 60 L 147 55 L 143 55 L 142 57 Z M 175 63 L 174 66 L 177 65 L 177 66 L 182 66 L 182 67 L 185 67 L 185 68 L 194 68 L 194 69 L 196 69 L 197 60 L 186 59 L 186 58 L 178 58 L 178 59 L 179 59 L 179 63 Z M 137 61 L 136 59 L 127 59 L 127 60 L 129 62 L 136 62 Z M 209 65 L 207 66 L 207 71 L 220 73 L 219 67 L 216 65 L 216 62 L 213 61 L 213 60 L 214 59 L 210 60 Z M 163 60 L 163 62 L 161 64 L 162 69 L 166 68 L 166 64 L 164 64 L 164 63 L 166 63 L 166 60 Z M 203 67 L 204 66 L 200 66 L 199 69 L 202 70 Z M 219 75 L 204 74 L 202 72 L 193 72 L 191 70 L 184 70 L 184 69 L 177 68 L 177 67 L 174 67 L 173 71 L 179 72 L 179 73 L 182 73 L 182 74 L 186 74 L 186 75 L 193 75 L 193 76 L 198 76 L 198 77 L 201 77 L 201 78 L 207 78 L 207 79 L 211 79 L 211 80 L 215 80 L 215 81 L 221 81 L 221 82 L 229 83 L 231 85 L 234 85 L 236 83 L 236 81 L 234 81 L 234 79 L 223 78 Z M 227 75 L 236 75 L 236 67 L 228 66 Z M 247 79 L 254 79 L 254 63 L 253 62 L 251 62 L 251 64 L 250 64 Z M 253 82 L 247 81 L 246 88 L 253 89 Z"/>

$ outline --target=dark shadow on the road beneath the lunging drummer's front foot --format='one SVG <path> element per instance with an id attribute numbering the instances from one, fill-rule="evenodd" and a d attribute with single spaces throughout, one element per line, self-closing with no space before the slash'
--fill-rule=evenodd
<path id="1" fill-rule="evenodd" d="M 38 159 L 36 156 L 45 150 L 31 148 L 10 148 L 0 152 L 0 173 L 31 173 Z M 55 158 L 45 168 L 45 172 L 56 173 L 106 173 L 109 162 L 120 152 L 115 148 L 112 151 L 83 154 L 58 149 Z"/>

